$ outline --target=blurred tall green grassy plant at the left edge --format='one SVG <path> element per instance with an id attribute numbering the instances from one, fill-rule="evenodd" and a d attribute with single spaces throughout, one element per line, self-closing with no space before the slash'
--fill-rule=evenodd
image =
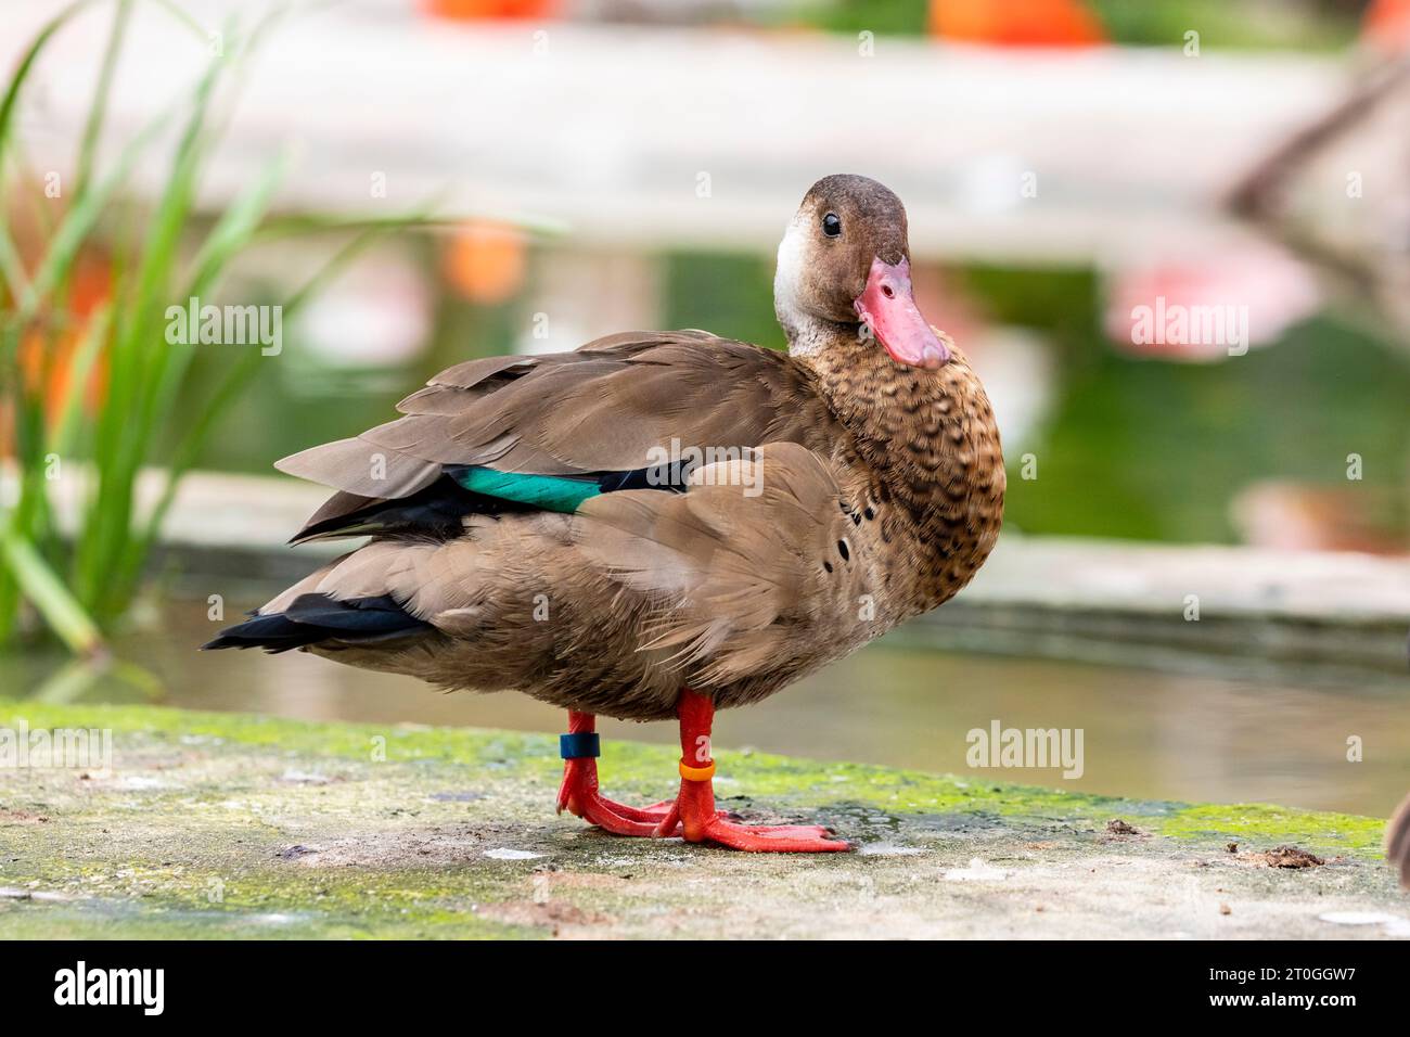
<path id="1" fill-rule="evenodd" d="M 196 212 L 202 171 L 220 137 L 214 100 L 276 25 L 275 10 L 243 32 L 231 21 L 216 37 L 168 0 L 151 0 L 186 25 L 193 45 L 210 54 L 206 72 L 169 111 L 125 141 L 110 168 L 99 169 L 97 144 L 109 87 L 135 0 L 109 0 L 113 23 L 73 165 L 68 200 L 55 219 L 39 202 L 38 258 L 25 268 L 11 233 L 20 199 L 38 198 L 17 141 L 16 120 L 35 62 L 66 23 L 102 0 L 61 10 L 21 58 L 0 100 L 0 645 L 27 629 L 28 602 L 73 652 L 100 653 L 103 635 L 130 607 L 182 475 L 200 456 L 220 415 L 255 372 L 258 348 L 241 351 L 220 372 L 200 418 L 173 427 L 175 405 L 188 387 L 195 341 L 166 340 L 166 308 L 210 298 L 231 262 L 252 244 L 295 234 L 337 231 L 343 244 L 279 305 L 292 317 L 341 268 L 382 236 L 450 220 L 424 212 L 371 219 L 272 216 L 271 199 L 288 169 L 271 161 L 228 206 L 203 220 Z M 235 89 L 231 86 L 230 89 Z M 180 133 L 164 159 L 165 182 L 155 203 L 124 190 L 140 158 L 164 126 Z M 209 227 L 192 251 L 193 227 Z M 102 255 L 106 286 L 86 308 L 75 302 L 82 264 Z M 195 336 L 188 336 L 195 339 Z M 7 418 L 8 416 L 8 418 Z M 8 420 L 8 426 L 6 427 Z M 16 464 L 4 460 L 4 443 Z M 138 511 L 138 477 L 158 442 L 173 442 L 155 504 Z M 75 463 L 75 460 L 80 463 Z M 62 466 L 62 468 L 59 468 Z M 76 528 L 61 535 L 51 490 L 54 475 L 80 478 Z"/>

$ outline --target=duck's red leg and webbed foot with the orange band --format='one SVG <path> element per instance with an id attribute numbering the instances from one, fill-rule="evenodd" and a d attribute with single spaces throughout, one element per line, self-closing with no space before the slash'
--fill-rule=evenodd
<path id="1" fill-rule="evenodd" d="M 736 824 L 715 810 L 715 760 L 709 732 L 715 703 L 684 689 L 677 703 L 681 718 L 681 793 L 656 827 L 657 835 L 681 834 L 687 842 L 718 842 L 732 849 L 774 854 L 819 854 L 852 849 L 815 824 Z"/>

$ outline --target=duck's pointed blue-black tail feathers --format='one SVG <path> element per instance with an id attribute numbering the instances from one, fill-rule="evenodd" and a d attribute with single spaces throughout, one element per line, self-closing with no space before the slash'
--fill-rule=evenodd
<path id="1" fill-rule="evenodd" d="M 262 648 L 266 652 L 288 652 L 324 641 L 371 645 L 427 629 L 430 624 L 407 612 L 389 594 L 341 601 L 329 594 L 300 594 L 283 611 L 255 614 L 243 624 L 221 631 L 213 641 L 202 645 L 202 649 Z"/>

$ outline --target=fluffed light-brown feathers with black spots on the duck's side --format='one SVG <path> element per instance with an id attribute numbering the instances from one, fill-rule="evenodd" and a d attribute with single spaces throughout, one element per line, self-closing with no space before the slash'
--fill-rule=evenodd
<path id="1" fill-rule="evenodd" d="M 857 632 L 877 566 L 830 461 L 795 443 L 697 470 L 684 494 L 596 497 L 572 518 L 581 554 L 653 602 L 639 649 L 673 649 L 702 687 Z"/>

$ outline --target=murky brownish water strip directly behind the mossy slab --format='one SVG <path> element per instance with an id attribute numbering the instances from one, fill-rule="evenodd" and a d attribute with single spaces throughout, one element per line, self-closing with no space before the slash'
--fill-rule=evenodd
<path id="1" fill-rule="evenodd" d="M 116 645 L 159 689 L 103 679 L 80 701 L 144 701 L 306 720 L 416 722 L 560 732 L 560 710 L 513 693 L 440 693 L 419 681 L 302 653 L 197 653 L 217 624 L 204 602 L 173 602 L 155 628 Z M 44 681 L 58 653 L 0 657 L 0 691 L 56 696 Z M 1014 728 L 1081 728 L 1084 772 L 974 769 L 966 735 L 998 720 Z M 603 720 L 603 738 L 673 744 L 670 724 Z M 1363 762 L 1348 762 L 1348 736 Z M 722 712 L 722 748 L 753 746 L 979 779 L 1151 799 L 1272 801 L 1386 815 L 1410 789 L 1410 711 L 1380 690 L 1155 673 L 1042 659 L 970 656 L 873 645 L 767 701 Z M 611 786 L 611 773 L 605 773 Z M 673 773 L 661 773 L 663 794 Z"/>

